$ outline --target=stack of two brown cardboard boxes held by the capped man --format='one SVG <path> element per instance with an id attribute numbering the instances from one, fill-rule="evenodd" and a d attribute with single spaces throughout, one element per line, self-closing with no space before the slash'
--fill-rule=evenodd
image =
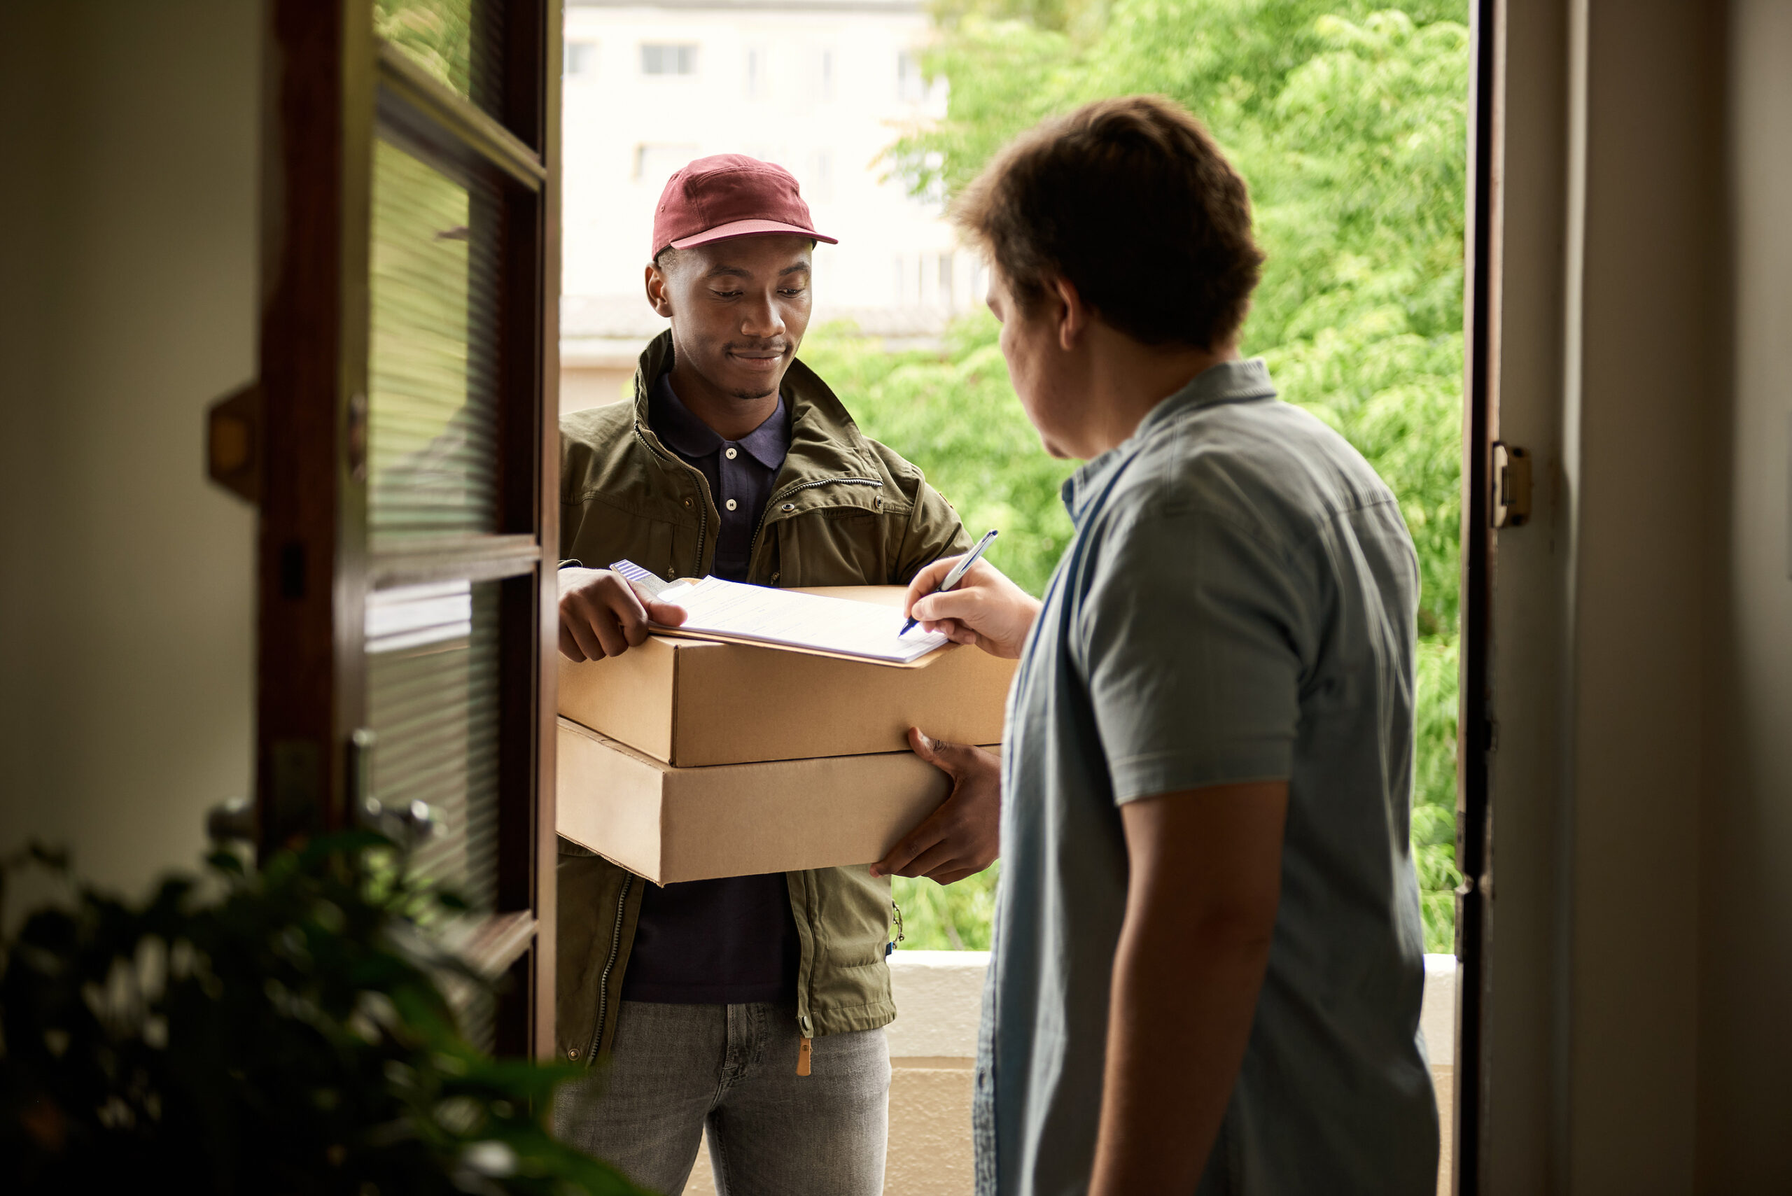
<path id="1" fill-rule="evenodd" d="M 871 863 L 948 793 L 909 727 L 998 743 L 1012 673 L 975 648 L 891 668 L 661 636 L 563 661 L 559 833 L 661 884 Z"/>

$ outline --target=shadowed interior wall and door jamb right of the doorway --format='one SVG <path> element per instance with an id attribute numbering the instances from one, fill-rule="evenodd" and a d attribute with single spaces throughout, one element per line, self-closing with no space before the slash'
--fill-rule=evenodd
<path id="1" fill-rule="evenodd" d="M 1778 1192 L 1792 5 L 1500 11 L 1498 419 L 1538 489 L 1495 571 L 1484 1191 Z"/>

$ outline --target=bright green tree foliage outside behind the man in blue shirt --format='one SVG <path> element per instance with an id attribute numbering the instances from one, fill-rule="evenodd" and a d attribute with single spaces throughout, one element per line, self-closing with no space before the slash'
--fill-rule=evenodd
<path id="1" fill-rule="evenodd" d="M 1052 113 L 1161 93 L 1245 177 L 1269 260 L 1244 351 L 1387 480 L 1419 555 L 1412 843 L 1430 951 L 1452 949 L 1457 883 L 1466 16 L 1462 0 L 941 0 L 928 70 L 952 82 L 948 113 L 891 150 L 916 192 L 950 195 Z M 830 380 L 839 363 L 837 389 L 871 435 L 944 485 L 968 525 L 1002 526 L 998 564 L 1038 593 L 1070 530 L 1055 500 L 1066 466 L 1020 435 L 987 320 L 935 360 L 880 365 L 871 347 L 821 340 L 805 356 Z M 980 901 L 910 893 L 909 942 L 978 940 Z"/>

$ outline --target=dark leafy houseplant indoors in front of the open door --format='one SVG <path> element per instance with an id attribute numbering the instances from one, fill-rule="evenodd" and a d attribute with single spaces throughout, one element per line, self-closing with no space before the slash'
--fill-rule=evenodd
<path id="1" fill-rule="evenodd" d="M 9 1191 L 633 1196 L 541 1123 L 581 1069 L 457 1029 L 437 979 L 477 981 L 419 918 L 459 904 L 360 833 L 32 913 L 0 974 Z"/>

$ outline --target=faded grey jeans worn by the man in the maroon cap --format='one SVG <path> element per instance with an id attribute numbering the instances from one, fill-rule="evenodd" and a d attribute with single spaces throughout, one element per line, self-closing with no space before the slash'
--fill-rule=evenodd
<path id="1" fill-rule="evenodd" d="M 814 1038 L 806 1076 L 797 1040 L 794 1008 L 624 1001 L 609 1065 L 561 1090 L 554 1132 L 667 1196 L 704 1126 L 720 1196 L 880 1196 L 883 1031 Z"/>

